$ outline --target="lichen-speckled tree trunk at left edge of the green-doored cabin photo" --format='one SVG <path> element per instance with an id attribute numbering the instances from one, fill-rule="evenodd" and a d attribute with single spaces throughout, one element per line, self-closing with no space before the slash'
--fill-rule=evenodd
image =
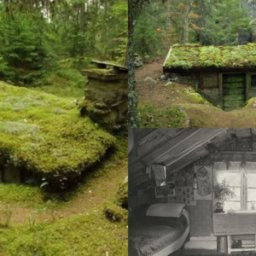
<path id="1" fill-rule="evenodd" d="M 137 91 L 134 73 L 134 56 L 133 56 L 133 13 L 132 0 L 128 0 L 128 126 L 129 128 L 139 128 L 137 116 Z"/>

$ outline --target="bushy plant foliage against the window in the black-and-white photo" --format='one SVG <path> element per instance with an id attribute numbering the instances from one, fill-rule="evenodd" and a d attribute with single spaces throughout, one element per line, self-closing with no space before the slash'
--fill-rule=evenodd
<path id="1" fill-rule="evenodd" d="M 215 199 L 219 202 L 224 202 L 227 199 L 236 196 L 233 189 L 230 188 L 230 183 L 228 183 L 225 178 L 221 183 L 217 183 L 213 186 L 213 192 Z"/>

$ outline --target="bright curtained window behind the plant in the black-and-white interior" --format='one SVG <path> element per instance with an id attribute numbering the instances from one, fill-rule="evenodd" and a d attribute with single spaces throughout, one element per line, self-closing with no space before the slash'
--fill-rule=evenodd
<path id="1" fill-rule="evenodd" d="M 220 170 L 214 171 L 214 183 L 221 183 L 225 180 L 235 193 L 234 197 L 227 198 L 224 201 L 226 212 L 231 209 L 235 211 L 256 210 L 256 164 L 249 163 L 251 168 L 248 169 L 246 167 L 241 168 L 240 164 L 238 162 L 231 163 L 229 170 L 221 167 Z"/>

